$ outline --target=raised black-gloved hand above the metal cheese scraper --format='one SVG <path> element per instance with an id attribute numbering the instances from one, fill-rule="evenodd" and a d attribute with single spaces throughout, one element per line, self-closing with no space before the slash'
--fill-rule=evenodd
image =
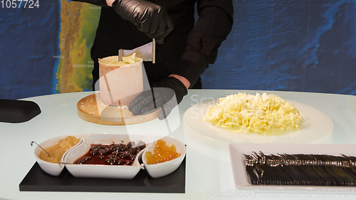
<path id="1" fill-rule="evenodd" d="M 122 19 L 134 23 L 139 31 L 150 38 L 156 38 L 159 44 L 162 44 L 164 38 L 173 30 L 173 22 L 166 9 L 149 1 L 115 0 L 112 9 Z"/>

